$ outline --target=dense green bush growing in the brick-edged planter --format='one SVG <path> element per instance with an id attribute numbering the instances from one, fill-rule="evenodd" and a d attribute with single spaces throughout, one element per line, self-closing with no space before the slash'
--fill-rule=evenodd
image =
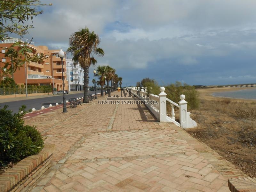
<path id="1" fill-rule="evenodd" d="M 12 115 L 12 110 L 0 109 L 0 165 L 17 162 L 27 156 L 37 154 L 43 147 L 44 140 L 34 126 L 24 125 L 22 117 L 26 106 Z"/>

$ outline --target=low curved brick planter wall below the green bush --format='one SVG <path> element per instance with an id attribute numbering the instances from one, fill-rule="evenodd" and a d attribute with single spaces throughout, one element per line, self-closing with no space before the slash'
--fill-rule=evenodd
<path id="1" fill-rule="evenodd" d="M 0 192 L 26 191 L 51 167 L 54 145 L 46 144 L 37 155 L 26 157 L 0 175 Z"/>

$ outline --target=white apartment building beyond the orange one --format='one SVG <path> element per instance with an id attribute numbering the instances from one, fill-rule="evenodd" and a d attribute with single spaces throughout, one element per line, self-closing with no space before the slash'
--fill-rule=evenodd
<path id="1" fill-rule="evenodd" d="M 84 91 L 84 69 L 80 64 L 74 64 L 72 59 L 66 59 L 67 80 L 70 91 Z"/>

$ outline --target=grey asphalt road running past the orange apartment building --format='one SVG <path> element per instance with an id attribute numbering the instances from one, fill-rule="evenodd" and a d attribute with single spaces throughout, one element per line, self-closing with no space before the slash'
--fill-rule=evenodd
<path id="1" fill-rule="evenodd" d="M 100 91 L 97 91 L 100 92 Z M 93 94 L 95 92 L 93 91 L 89 91 L 88 94 Z M 65 100 L 68 100 L 70 98 L 79 98 L 79 97 L 84 97 L 84 92 L 79 92 L 79 93 L 68 93 L 65 94 Z M 21 107 L 21 105 L 26 105 L 27 106 L 27 110 L 28 109 L 32 109 L 35 108 L 36 110 L 41 109 L 42 106 L 44 106 L 45 108 L 48 108 L 50 104 L 52 104 L 52 106 L 55 106 L 56 103 L 61 104 L 61 101 L 63 101 L 63 95 L 52 95 L 52 96 L 48 96 L 48 97 L 43 97 L 43 98 L 36 98 L 36 99 L 23 99 L 23 100 L 18 100 L 18 101 L 9 101 L 9 102 L 1 102 L 0 103 L 0 108 L 3 108 L 4 105 L 8 105 L 9 107 L 7 109 L 12 110 L 12 113 L 17 113 L 19 111 L 19 108 Z"/>

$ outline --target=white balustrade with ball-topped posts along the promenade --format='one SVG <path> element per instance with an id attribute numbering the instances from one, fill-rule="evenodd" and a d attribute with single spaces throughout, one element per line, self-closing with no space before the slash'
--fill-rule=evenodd
<path id="1" fill-rule="evenodd" d="M 173 102 L 172 100 L 166 98 L 166 93 L 164 92 L 165 88 L 160 87 L 159 95 L 147 94 L 147 87 L 127 87 L 131 92 L 132 96 L 144 100 L 145 105 L 148 109 L 154 114 L 154 116 L 160 122 L 173 122 L 177 126 L 182 127 L 183 129 L 194 128 L 197 126 L 197 123 L 190 118 L 190 112 L 187 111 L 188 102 L 185 101 L 185 95 L 180 95 L 179 104 Z M 166 106 L 167 102 L 171 104 L 171 117 L 167 116 Z M 175 120 L 174 107 L 179 108 L 180 112 L 180 123 Z"/>

